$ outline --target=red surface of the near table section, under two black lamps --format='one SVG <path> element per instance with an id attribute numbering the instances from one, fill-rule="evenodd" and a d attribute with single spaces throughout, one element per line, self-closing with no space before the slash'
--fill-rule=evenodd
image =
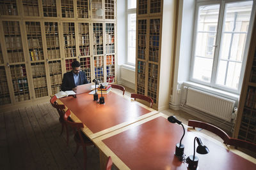
<path id="1" fill-rule="evenodd" d="M 175 157 L 175 145 L 182 137 L 183 129 L 158 117 L 127 131 L 104 139 L 105 143 L 130 169 L 187 169 L 184 162 Z M 182 144 L 186 157 L 193 155 L 196 134 L 186 131 Z M 199 169 L 256 169 L 256 164 L 217 145 L 209 139 L 197 136 L 210 152 L 196 153 Z M 196 147 L 197 147 L 196 143 Z"/>

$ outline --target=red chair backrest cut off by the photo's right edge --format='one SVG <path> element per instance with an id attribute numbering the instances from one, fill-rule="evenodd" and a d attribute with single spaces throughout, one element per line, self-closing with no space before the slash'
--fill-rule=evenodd
<path id="1" fill-rule="evenodd" d="M 236 148 L 244 148 L 256 153 L 256 144 L 242 139 L 230 138 L 228 145 L 235 146 Z"/>

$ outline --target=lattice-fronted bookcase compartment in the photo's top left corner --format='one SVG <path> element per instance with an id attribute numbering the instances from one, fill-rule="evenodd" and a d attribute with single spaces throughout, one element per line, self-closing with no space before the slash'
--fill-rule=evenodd
<path id="1" fill-rule="evenodd" d="M 18 15 L 16 0 L 0 1 L 0 15 Z"/>

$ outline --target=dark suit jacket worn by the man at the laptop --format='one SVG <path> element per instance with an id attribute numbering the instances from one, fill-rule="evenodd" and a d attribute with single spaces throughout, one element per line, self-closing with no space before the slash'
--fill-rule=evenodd
<path id="1" fill-rule="evenodd" d="M 83 71 L 79 72 L 79 78 L 80 78 L 79 85 L 88 83 L 86 75 Z M 72 71 L 65 73 L 63 76 L 62 84 L 61 84 L 61 90 L 62 91 L 72 90 L 72 88 L 75 88 L 75 87 L 76 87 L 76 85 L 75 85 L 74 76 L 73 76 Z"/>

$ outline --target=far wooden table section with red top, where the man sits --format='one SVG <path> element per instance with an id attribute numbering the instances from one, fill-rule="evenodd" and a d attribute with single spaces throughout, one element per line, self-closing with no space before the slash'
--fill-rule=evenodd
<path id="1" fill-rule="evenodd" d="M 83 132 L 90 139 L 158 113 L 152 108 L 113 91 L 103 96 L 105 104 L 93 101 L 93 95 L 88 93 L 79 94 L 76 98 L 64 97 L 58 99 L 57 102 L 65 104 L 70 109 L 72 120 L 83 122 Z"/>

